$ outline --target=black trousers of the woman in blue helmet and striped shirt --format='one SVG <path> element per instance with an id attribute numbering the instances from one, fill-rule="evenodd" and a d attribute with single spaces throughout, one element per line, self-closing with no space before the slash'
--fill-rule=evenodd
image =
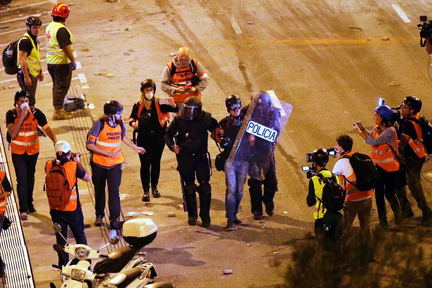
<path id="1" fill-rule="evenodd" d="M 387 222 L 387 209 L 385 207 L 384 197 L 390 204 L 391 210 L 393 210 L 394 214 L 396 215 L 397 213 L 400 213 L 399 201 L 394 194 L 397 175 L 399 172 L 388 172 L 378 165 L 375 165 L 375 167 L 377 168 L 380 177 L 380 181 L 375 187 L 375 201 L 378 209 L 378 220 L 380 223 L 385 223 Z"/>

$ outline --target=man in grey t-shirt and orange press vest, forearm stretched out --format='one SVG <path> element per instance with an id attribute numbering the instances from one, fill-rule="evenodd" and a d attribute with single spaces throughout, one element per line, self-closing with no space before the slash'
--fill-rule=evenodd
<path id="1" fill-rule="evenodd" d="M 86 148 L 90 151 L 92 183 L 95 186 L 95 226 L 103 225 L 105 217 L 105 186 L 108 186 L 108 209 L 110 220 L 110 237 L 117 237 L 115 230 L 120 220 L 121 164 L 124 163 L 121 142 L 136 152 L 143 154 L 146 150 L 137 147 L 126 137 L 123 119 L 123 106 L 115 100 L 104 104 L 104 115 L 96 120 L 87 135 Z"/>

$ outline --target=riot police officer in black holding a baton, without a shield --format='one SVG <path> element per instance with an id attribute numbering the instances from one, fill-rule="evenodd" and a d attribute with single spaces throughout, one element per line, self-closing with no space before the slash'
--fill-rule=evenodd
<path id="1" fill-rule="evenodd" d="M 177 170 L 181 174 L 186 198 L 189 225 L 196 225 L 198 218 L 197 196 L 200 196 L 200 218 L 203 227 L 210 226 L 210 166 L 207 158 L 208 132 L 218 125 L 211 113 L 202 110 L 201 100 L 195 96 L 186 98 L 181 114 L 174 117 L 165 135 L 168 148 L 177 154 Z M 177 137 L 177 143 L 173 137 Z M 198 186 L 195 185 L 195 174 Z"/>

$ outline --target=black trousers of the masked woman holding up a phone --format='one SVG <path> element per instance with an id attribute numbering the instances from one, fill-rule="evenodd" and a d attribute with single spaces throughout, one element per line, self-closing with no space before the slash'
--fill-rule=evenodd
<path id="1" fill-rule="evenodd" d="M 138 132 L 137 146 L 146 149 L 146 153 L 140 156 L 141 184 L 144 190 L 149 189 L 150 182 L 155 188 L 159 183 L 161 171 L 161 158 L 165 148 L 165 133 L 142 133 Z"/>

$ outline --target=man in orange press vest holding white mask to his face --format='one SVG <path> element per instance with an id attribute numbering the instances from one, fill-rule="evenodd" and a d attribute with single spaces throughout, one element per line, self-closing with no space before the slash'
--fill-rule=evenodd
<path id="1" fill-rule="evenodd" d="M 54 131 L 48 125 L 47 117 L 38 108 L 29 106 L 27 91 L 15 93 L 15 108 L 6 112 L 6 138 L 10 142 L 13 168 L 16 173 L 16 190 L 19 200 L 19 218 L 27 220 L 27 213 L 36 213 L 33 206 L 36 162 L 39 156 L 38 125 L 47 133 L 53 143 L 57 142 Z"/>

